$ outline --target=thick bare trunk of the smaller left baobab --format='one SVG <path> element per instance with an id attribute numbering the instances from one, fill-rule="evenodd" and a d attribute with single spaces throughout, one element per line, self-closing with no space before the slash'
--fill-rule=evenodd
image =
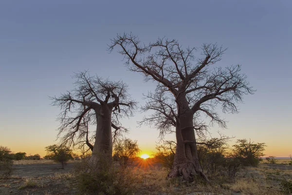
<path id="1" fill-rule="evenodd" d="M 112 162 L 111 111 L 107 105 L 101 105 L 96 113 L 96 134 L 90 159 L 91 170 L 109 170 Z"/>

